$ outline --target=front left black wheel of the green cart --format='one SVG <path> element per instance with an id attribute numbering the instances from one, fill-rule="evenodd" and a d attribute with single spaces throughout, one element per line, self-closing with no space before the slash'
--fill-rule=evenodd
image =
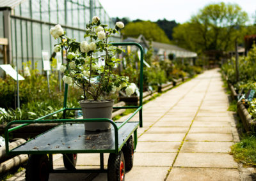
<path id="1" fill-rule="evenodd" d="M 26 181 L 47 181 L 49 179 L 49 158 L 47 155 L 31 155 L 25 173 Z"/>

